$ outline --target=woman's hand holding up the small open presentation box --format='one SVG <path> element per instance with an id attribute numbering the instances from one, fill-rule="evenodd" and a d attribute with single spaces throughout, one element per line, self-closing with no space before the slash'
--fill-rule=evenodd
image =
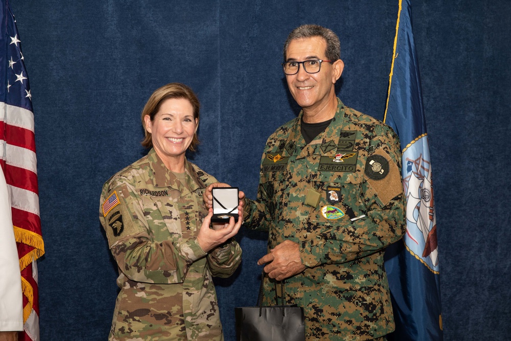
<path id="1" fill-rule="evenodd" d="M 243 210 L 240 210 L 239 215 L 238 222 L 235 223 L 234 217 L 230 217 L 229 222 L 225 223 L 223 228 L 214 230 L 210 229 L 211 217 L 213 216 L 213 209 L 210 209 L 207 216 L 202 220 L 202 225 L 197 235 L 197 242 L 202 251 L 210 252 L 213 248 L 225 243 L 229 238 L 236 236 L 243 223 Z"/>

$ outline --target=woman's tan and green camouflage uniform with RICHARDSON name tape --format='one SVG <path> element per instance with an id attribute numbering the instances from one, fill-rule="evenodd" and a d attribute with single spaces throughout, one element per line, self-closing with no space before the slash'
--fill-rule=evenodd
<path id="1" fill-rule="evenodd" d="M 197 233 L 217 180 L 185 161 L 185 183 L 154 149 L 103 186 L 100 220 L 119 266 L 110 341 L 223 340 L 212 276 L 241 262 L 234 240 L 207 255 Z"/>

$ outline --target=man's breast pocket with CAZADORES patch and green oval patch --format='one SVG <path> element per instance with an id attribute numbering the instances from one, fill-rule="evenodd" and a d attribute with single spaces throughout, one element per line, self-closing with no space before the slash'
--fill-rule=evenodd
<path id="1" fill-rule="evenodd" d="M 362 176 L 343 173 L 319 173 L 311 177 L 312 188 L 319 193 L 319 204 L 311 208 L 311 220 L 336 223 L 365 214 L 361 197 Z"/>

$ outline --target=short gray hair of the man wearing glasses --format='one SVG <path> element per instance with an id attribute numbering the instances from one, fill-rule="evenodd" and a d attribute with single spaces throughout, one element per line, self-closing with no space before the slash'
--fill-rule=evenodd
<path id="1" fill-rule="evenodd" d="M 301 25 L 291 31 L 284 43 L 284 61 L 286 61 L 286 51 L 291 40 L 312 37 L 321 37 L 327 42 L 325 54 L 328 60 L 336 61 L 340 59 L 341 43 L 339 42 L 339 37 L 332 30 L 319 25 Z"/>

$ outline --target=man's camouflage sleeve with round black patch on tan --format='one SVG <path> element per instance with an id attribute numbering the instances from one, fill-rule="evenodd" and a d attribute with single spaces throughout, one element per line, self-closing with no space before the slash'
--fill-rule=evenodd
<path id="1" fill-rule="evenodd" d="M 365 217 L 354 221 L 348 218 L 316 238 L 301 242 L 304 265 L 314 267 L 362 258 L 398 241 L 405 233 L 399 139 L 387 126 L 376 130 L 361 186 Z"/>

